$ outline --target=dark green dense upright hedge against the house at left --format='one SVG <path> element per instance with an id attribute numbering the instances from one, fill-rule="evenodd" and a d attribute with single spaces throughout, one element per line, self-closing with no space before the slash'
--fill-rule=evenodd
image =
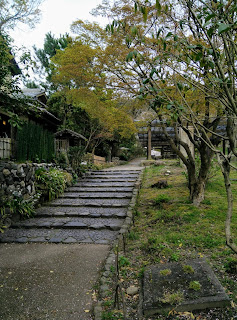
<path id="1" fill-rule="evenodd" d="M 54 156 L 54 137 L 39 124 L 27 122 L 17 131 L 17 160 L 50 162 Z"/>

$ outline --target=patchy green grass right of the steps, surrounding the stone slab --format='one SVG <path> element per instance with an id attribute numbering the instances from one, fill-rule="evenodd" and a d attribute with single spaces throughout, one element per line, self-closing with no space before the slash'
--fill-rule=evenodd
<path id="1" fill-rule="evenodd" d="M 166 176 L 168 188 L 156 189 L 151 186 Z M 124 288 L 127 315 L 126 319 L 138 319 L 139 295 L 128 295 L 130 286 L 140 287 L 145 267 L 171 261 L 184 262 L 184 272 L 192 273 L 186 260 L 204 257 L 211 265 L 216 276 L 231 299 L 231 307 L 209 311 L 177 313 L 149 317 L 163 319 L 235 319 L 237 317 L 237 259 L 225 244 L 225 218 L 227 201 L 221 172 L 217 171 L 208 181 L 206 197 L 200 207 L 193 206 L 188 200 L 187 180 L 184 168 L 177 160 L 166 160 L 162 166 L 151 166 L 144 173 L 138 203 L 135 208 L 134 225 L 126 236 L 126 254 L 121 245 L 120 255 L 126 256 L 129 265 L 121 266 L 120 282 Z M 231 172 L 234 198 L 237 196 L 237 172 Z M 167 199 L 157 206 L 157 199 Z M 158 201 L 160 203 L 160 201 Z M 237 236 L 237 203 L 234 204 L 232 229 Z M 199 289 L 198 283 L 190 283 L 193 290 Z M 200 288 L 201 289 L 201 288 Z M 113 301 L 113 286 L 110 298 Z M 124 319 L 121 313 L 104 307 L 104 314 L 110 312 L 111 319 Z M 122 308 L 121 308 L 122 309 Z M 121 311 L 121 310 L 120 310 Z M 112 312 L 112 313 L 111 313 Z M 144 318 L 145 319 L 145 318 Z"/>

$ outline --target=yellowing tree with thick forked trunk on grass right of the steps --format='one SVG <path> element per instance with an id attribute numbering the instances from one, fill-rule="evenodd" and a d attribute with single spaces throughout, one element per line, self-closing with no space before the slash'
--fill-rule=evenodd
<path id="1" fill-rule="evenodd" d="M 187 168 L 190 199 L 199 205 L 204 199 L 205 184 L 214 155 L 206 144 L 205 132 L 200 128 L 206 125 L 215 133 L 221 111 L 212 98 L 206 98 L 202 85 L 203 81 L 207 83 L 206 71 L 202 65 L 199 65 L 199 75 L 192 78 L 193 82 L 199 84 L 196 94 L 193 94 L 193 84 L 186 77 L 192 71 L 192 66 L 185 59 L 177 58 L 177 54 L 185 56 L 187 52 L 185 48 L 177 46 L 177 35 L 173 36 L 177 19 L 172 22 L 175 19 L 172 8 L 172 5 L 164 4 L 161 7 L 157 1 L 146 1 L 144 6 L 137 3 L 134 10 L 134 1 L 123 0 L 112 7 L 105 1 L 97 8 L 97 13 L 107 14 L 114 21 L 107 27 L 110 33 L 103 50 L 103 65 L 110 76 L 110 83 L 120 94 L 129 92 L 131 96 L 145 99 L 147 105 L 156 112 L 167 140 Z M 142 15 L 136 13 L 138 9 Z M 167 26 L 170 30 L 167 30 Z M 191 37 L 190 42 L 194 41 Z M 193 127 L 196 129 L 193 120 L 196 117 L 200 122 L 198 140 L 193 132 Z M 167 126 L 175 128 L 175 136 L 169 134 Z M 181 129 L 198 150 L 200 167 L 197 166 L 192 148 L 181 138 Z M 213 135 L 210 139 L 217 146 L 220 140 L 215 137 Z"/>

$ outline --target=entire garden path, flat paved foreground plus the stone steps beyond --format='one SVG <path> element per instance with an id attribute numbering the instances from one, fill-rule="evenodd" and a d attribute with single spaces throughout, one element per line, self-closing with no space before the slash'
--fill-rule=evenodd
<path id="1" fill-rule="evenodd" d="M 126 217 L 139 163 L 87 174 L 34 219 L 0 235 L 0 320 L 93 319 L 93 288 Z"/>

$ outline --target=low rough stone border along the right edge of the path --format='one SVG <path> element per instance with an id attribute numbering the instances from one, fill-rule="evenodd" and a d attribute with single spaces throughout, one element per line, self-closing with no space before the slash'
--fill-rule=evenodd
<path id="1" fill-rule="evenodd" d="M 128 233 L 130 226 L 133 223 L 133 209 L 136 205 L 137 202 L 137 197 L 138 197 L 138 193 L 141 187 L 141 183 L 142 183 L 142 177 L 143 177 L 143 173 L 144 173 L 144 167 L 141 168 L 141 172 L 139 174 L 139 177 L 135 183 L 134 189 L 133 189 L 133 193 L 132 193 L 132 199 L 129 203 L 128 206 L 128 211 L 127 211 L 127 217 L 119 231 L 119 236 L 118 239 L 115 240 L 115 242 L 113 243 L 113 247 L 110 250 L 110 253 L 105 261 L 105 265 L 104 265 L 104 270 L 102 272 L 102 276 L 99 280 L 100 285 L 99 285 L 99 297 L 101 298 L 105 298 L 108 295 L 108 291 L 110 290 L 109 284 L 112 282 L 112 279 L 110 277 L 110 273 L 112 268 L 114 268 L 115 266 L 115 253 L 114 253 L 114 247 L 118 246 L 119 244 L 122 243 L 124 241 L 124 236 Z M 98 300 L 97 303 L 94 306 L 94 320 L 102 320 L 102 312 L 103 312 L 103 308 L 102 308 L 102 300 Z"/>

